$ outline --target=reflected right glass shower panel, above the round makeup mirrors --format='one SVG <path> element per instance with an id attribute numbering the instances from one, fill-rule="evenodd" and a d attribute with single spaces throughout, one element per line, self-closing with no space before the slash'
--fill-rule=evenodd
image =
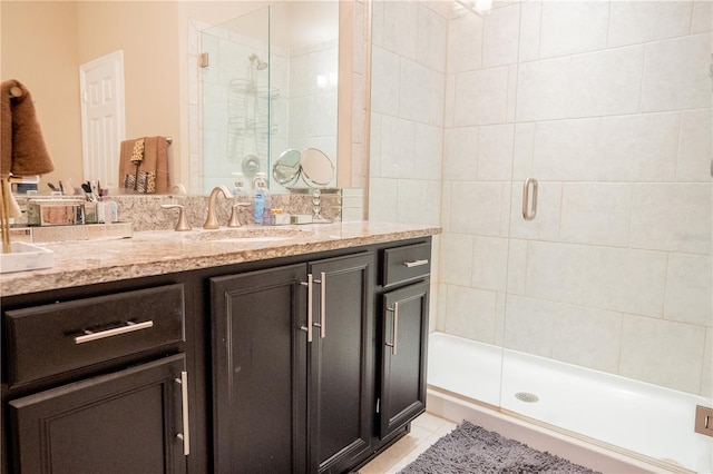
<path id="1" fill-rule="evenodd" d="M 339 3 L 279 1 L 271 6 L 271 83 L 273 91 L 280 91 L 280 99 L 272 102 L 271 162 L 287 150 L 307 148 L 338 161 Z M 336 186 L 335 177 L 329 186 Z M 273 180 L 271 190 L 285 192 L 286 188 Z"/>

